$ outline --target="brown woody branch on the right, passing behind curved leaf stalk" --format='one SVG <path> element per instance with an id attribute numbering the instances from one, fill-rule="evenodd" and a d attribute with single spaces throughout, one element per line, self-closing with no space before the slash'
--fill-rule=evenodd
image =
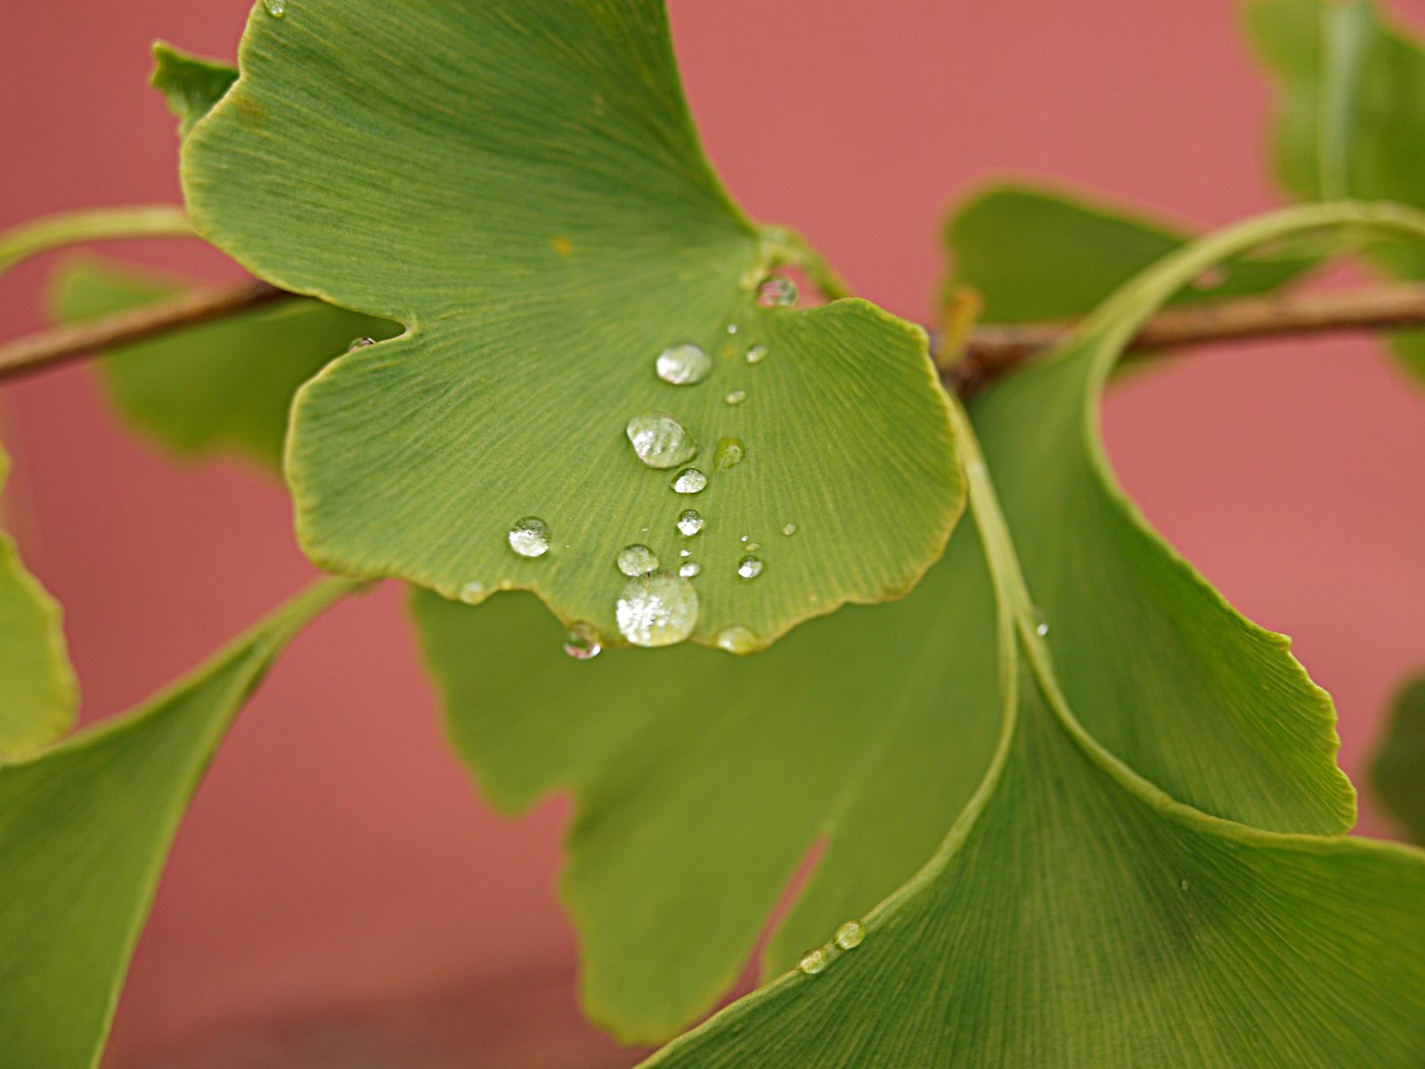
<path id="1" fill-rule="evenodd" d="M 1129 352 L 1328 331 L 1425 326 L 1425 285 L 1387 284 L 1340 294 L 1277 294 L 1168 308 L 1144 324 Z M 938 355 L 945 381 L 982 389 L 1073 335 L 1072 322 L 980 325 L 956 353 Z"/>

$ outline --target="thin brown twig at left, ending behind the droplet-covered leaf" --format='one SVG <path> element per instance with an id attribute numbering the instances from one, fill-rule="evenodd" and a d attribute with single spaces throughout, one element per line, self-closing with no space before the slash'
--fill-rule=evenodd
<path id="1" fill-rule="evenodd" d="M 248 279 L 227 289 L 197 289 L 98 319 L 58 326 L 0 345 L 0 379 L 94 355 L 103 349 L 147 341 L 182 326 L 211 322 L 292 296 L 266 282 Z"/>

